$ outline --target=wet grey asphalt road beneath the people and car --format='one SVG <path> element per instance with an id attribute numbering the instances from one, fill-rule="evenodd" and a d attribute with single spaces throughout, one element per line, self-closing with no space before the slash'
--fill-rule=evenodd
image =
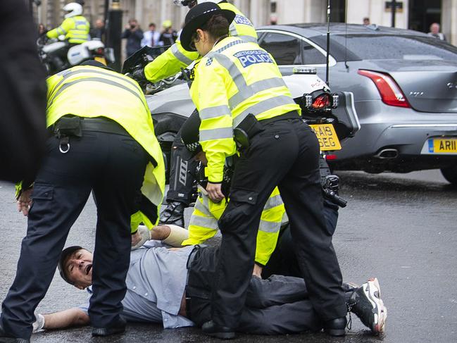
<path id="1" fill-rule="evenodd" d="M 372 337 L 352 316 L 344 338 L 324 334 L 261 337 L 240 335 L 237 342 L 457 342 L 457 189 L 437 170 L 406 175 L 341 172 L 340 211 L 334 246 L 344 280 L 362 283 L 377 276 L 388 308 L 386 333 Z M 26 220 L 15 211 L 13 187 L 0 182 L 0 299 L 15 275 Z M 187 211 L 187 220 L 189 218 Z M 92 247 L 92 199 L 68 237 L 68 244 Z M 54 277 L 39 305 L 42 313 L 82 304 L 84 292 Z M 92 339 L 89 328 L 44 332 L 32 342 L 204 342 L 197 329 L 163 330 L 160 325 L 129 325 L 124 335 Z M 214 342 L 218 342 L 215 340 Z"/>

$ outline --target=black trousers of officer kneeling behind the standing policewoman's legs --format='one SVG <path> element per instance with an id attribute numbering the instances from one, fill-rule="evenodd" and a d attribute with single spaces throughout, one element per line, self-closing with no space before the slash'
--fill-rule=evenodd
<path id="1" fill-rule="evenodd" d="M 338 206 L 328 199 L 324 199 L 324 217 L 327 229 L 333 235 L 337 227 Z M 294 253 L 294 239 L 292 239 L 289 224 L 281 227 L 275 251 L 273 251 L 267 265 L 262 270 L 262 277 L 269 277 L 274 274 L 295 277 L 301 277 L 302 275 L 299 260 Z"/>

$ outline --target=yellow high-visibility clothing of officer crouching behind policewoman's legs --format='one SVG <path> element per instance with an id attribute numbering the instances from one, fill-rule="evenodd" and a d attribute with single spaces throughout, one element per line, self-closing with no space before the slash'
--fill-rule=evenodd
<path id="1" fill-rule="evenodd" d="M 225 199 L 215 204 L 206 195 L 199 194 L 187 229 L 189 238 L 184 240 L 182 245 L 201 244 L 213 237 L 219 230 L 218 220 L 224 213 L 225 207 L 227 207 Z M 280 191 L 275 187 L 263 208 L 261 222 L 258 225 L 256 262 L 262 266 L 267 264 L 275 250 L 285 212 Z"/>

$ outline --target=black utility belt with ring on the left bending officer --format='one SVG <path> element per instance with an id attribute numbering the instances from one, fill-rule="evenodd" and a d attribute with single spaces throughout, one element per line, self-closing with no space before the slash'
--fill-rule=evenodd
<path id="1" fill-rule="evenodd" d="M 82 137 L 83 131 L 106 132 L 130 137 L 124 127 L 106 117 L 84 118 L 68 115 L 48 127 L 49 135 L 60 139 L 58 149 L 62 154 L 70 150 L 70 137 Z"/>

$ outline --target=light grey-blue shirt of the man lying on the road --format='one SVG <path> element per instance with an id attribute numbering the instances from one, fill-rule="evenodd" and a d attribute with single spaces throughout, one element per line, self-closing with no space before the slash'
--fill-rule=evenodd
<path id="1" fill-rule="evenodd" d="M 125 280 L 127 292 L 123 316 L 131 322 L 161 323 L 163 328 L 193 326 L 179 316 L 187 280 L 187 258 L 194 247 L 170 250 L 159 241 L 149 241 L 130 254 Z M 87 291 L 92 294 L 92 287 Z M 80 306 L 87 313 L 89 302 Z"/>

